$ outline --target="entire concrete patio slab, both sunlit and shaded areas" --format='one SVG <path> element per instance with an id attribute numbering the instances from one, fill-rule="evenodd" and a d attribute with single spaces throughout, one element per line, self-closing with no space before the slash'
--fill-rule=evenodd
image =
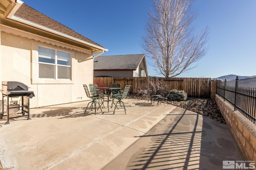
<path id="1" fill-rule="evenodd" d="M 12 170 L 222 169 L 245 160 L 228 127 L 179 107 L 124 99 L 84 114 L 89 101 L 0 119 L 0 160 Z M 105 105 L 106 106 L 106 105 Z"/>

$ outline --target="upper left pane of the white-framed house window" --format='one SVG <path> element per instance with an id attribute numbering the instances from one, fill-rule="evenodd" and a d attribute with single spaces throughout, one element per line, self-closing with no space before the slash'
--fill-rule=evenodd
<path id="1" fill-rule="evenodd" d="M 55 63 L 55 50 L 38 47 L 38 61 L 44 63 Z"/>

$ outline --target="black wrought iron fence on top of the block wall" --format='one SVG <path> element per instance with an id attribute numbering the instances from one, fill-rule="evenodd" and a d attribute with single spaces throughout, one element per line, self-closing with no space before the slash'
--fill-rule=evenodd
<path id="1" fill-rule="evenodd" d="M 234 106 L 254 124 L 256 123 L 256 78 L 217 82 L 217 94 Z"/>

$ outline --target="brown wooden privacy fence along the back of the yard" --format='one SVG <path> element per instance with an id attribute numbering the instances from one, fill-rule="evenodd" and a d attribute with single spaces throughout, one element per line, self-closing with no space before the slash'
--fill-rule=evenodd
<path id="1" fill-rule="evenodd" d="M 188 97 L 210 98 L 211 78 L 159 78 L 159 77 L 94 77 L 94 84 L 99 87 L 110 87 L 112 83 L 120 83 L 121 89 L 131 85 L 130 93 L 136 94 L 150 82 L 160 81 L 162 86 L 169 86 L 170 90 L 184 90 Z"/>

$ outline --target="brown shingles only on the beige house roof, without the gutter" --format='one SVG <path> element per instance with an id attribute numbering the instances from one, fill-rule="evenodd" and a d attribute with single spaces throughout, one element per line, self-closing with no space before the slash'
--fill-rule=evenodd
<path id="1" fill-rule="evenodd" d="M 79 33 L 73 31 L 72 29 L 62 25 L 61 23 L 49 18 L 48 16 L 38 12 L 37 10 L 31 8 L 26 4 L 22 4 L 20 8 L 15 12 L 15 17 L 24 19 L 26 21 L 30 21 L 32 23 L 36 23 L 38 25 L 42 25 L 43 27 L 52 29 L 54 31 L 58 31 L 70 37 L 74 37 L 76 39 L 88 42 L 90 44 L 96 45 L 98 47 L 102 47 L 101 45 L 93 42 L 92 40 L 80 35 Z M 104 48 L 104 47 L 102 47 Z"/>

